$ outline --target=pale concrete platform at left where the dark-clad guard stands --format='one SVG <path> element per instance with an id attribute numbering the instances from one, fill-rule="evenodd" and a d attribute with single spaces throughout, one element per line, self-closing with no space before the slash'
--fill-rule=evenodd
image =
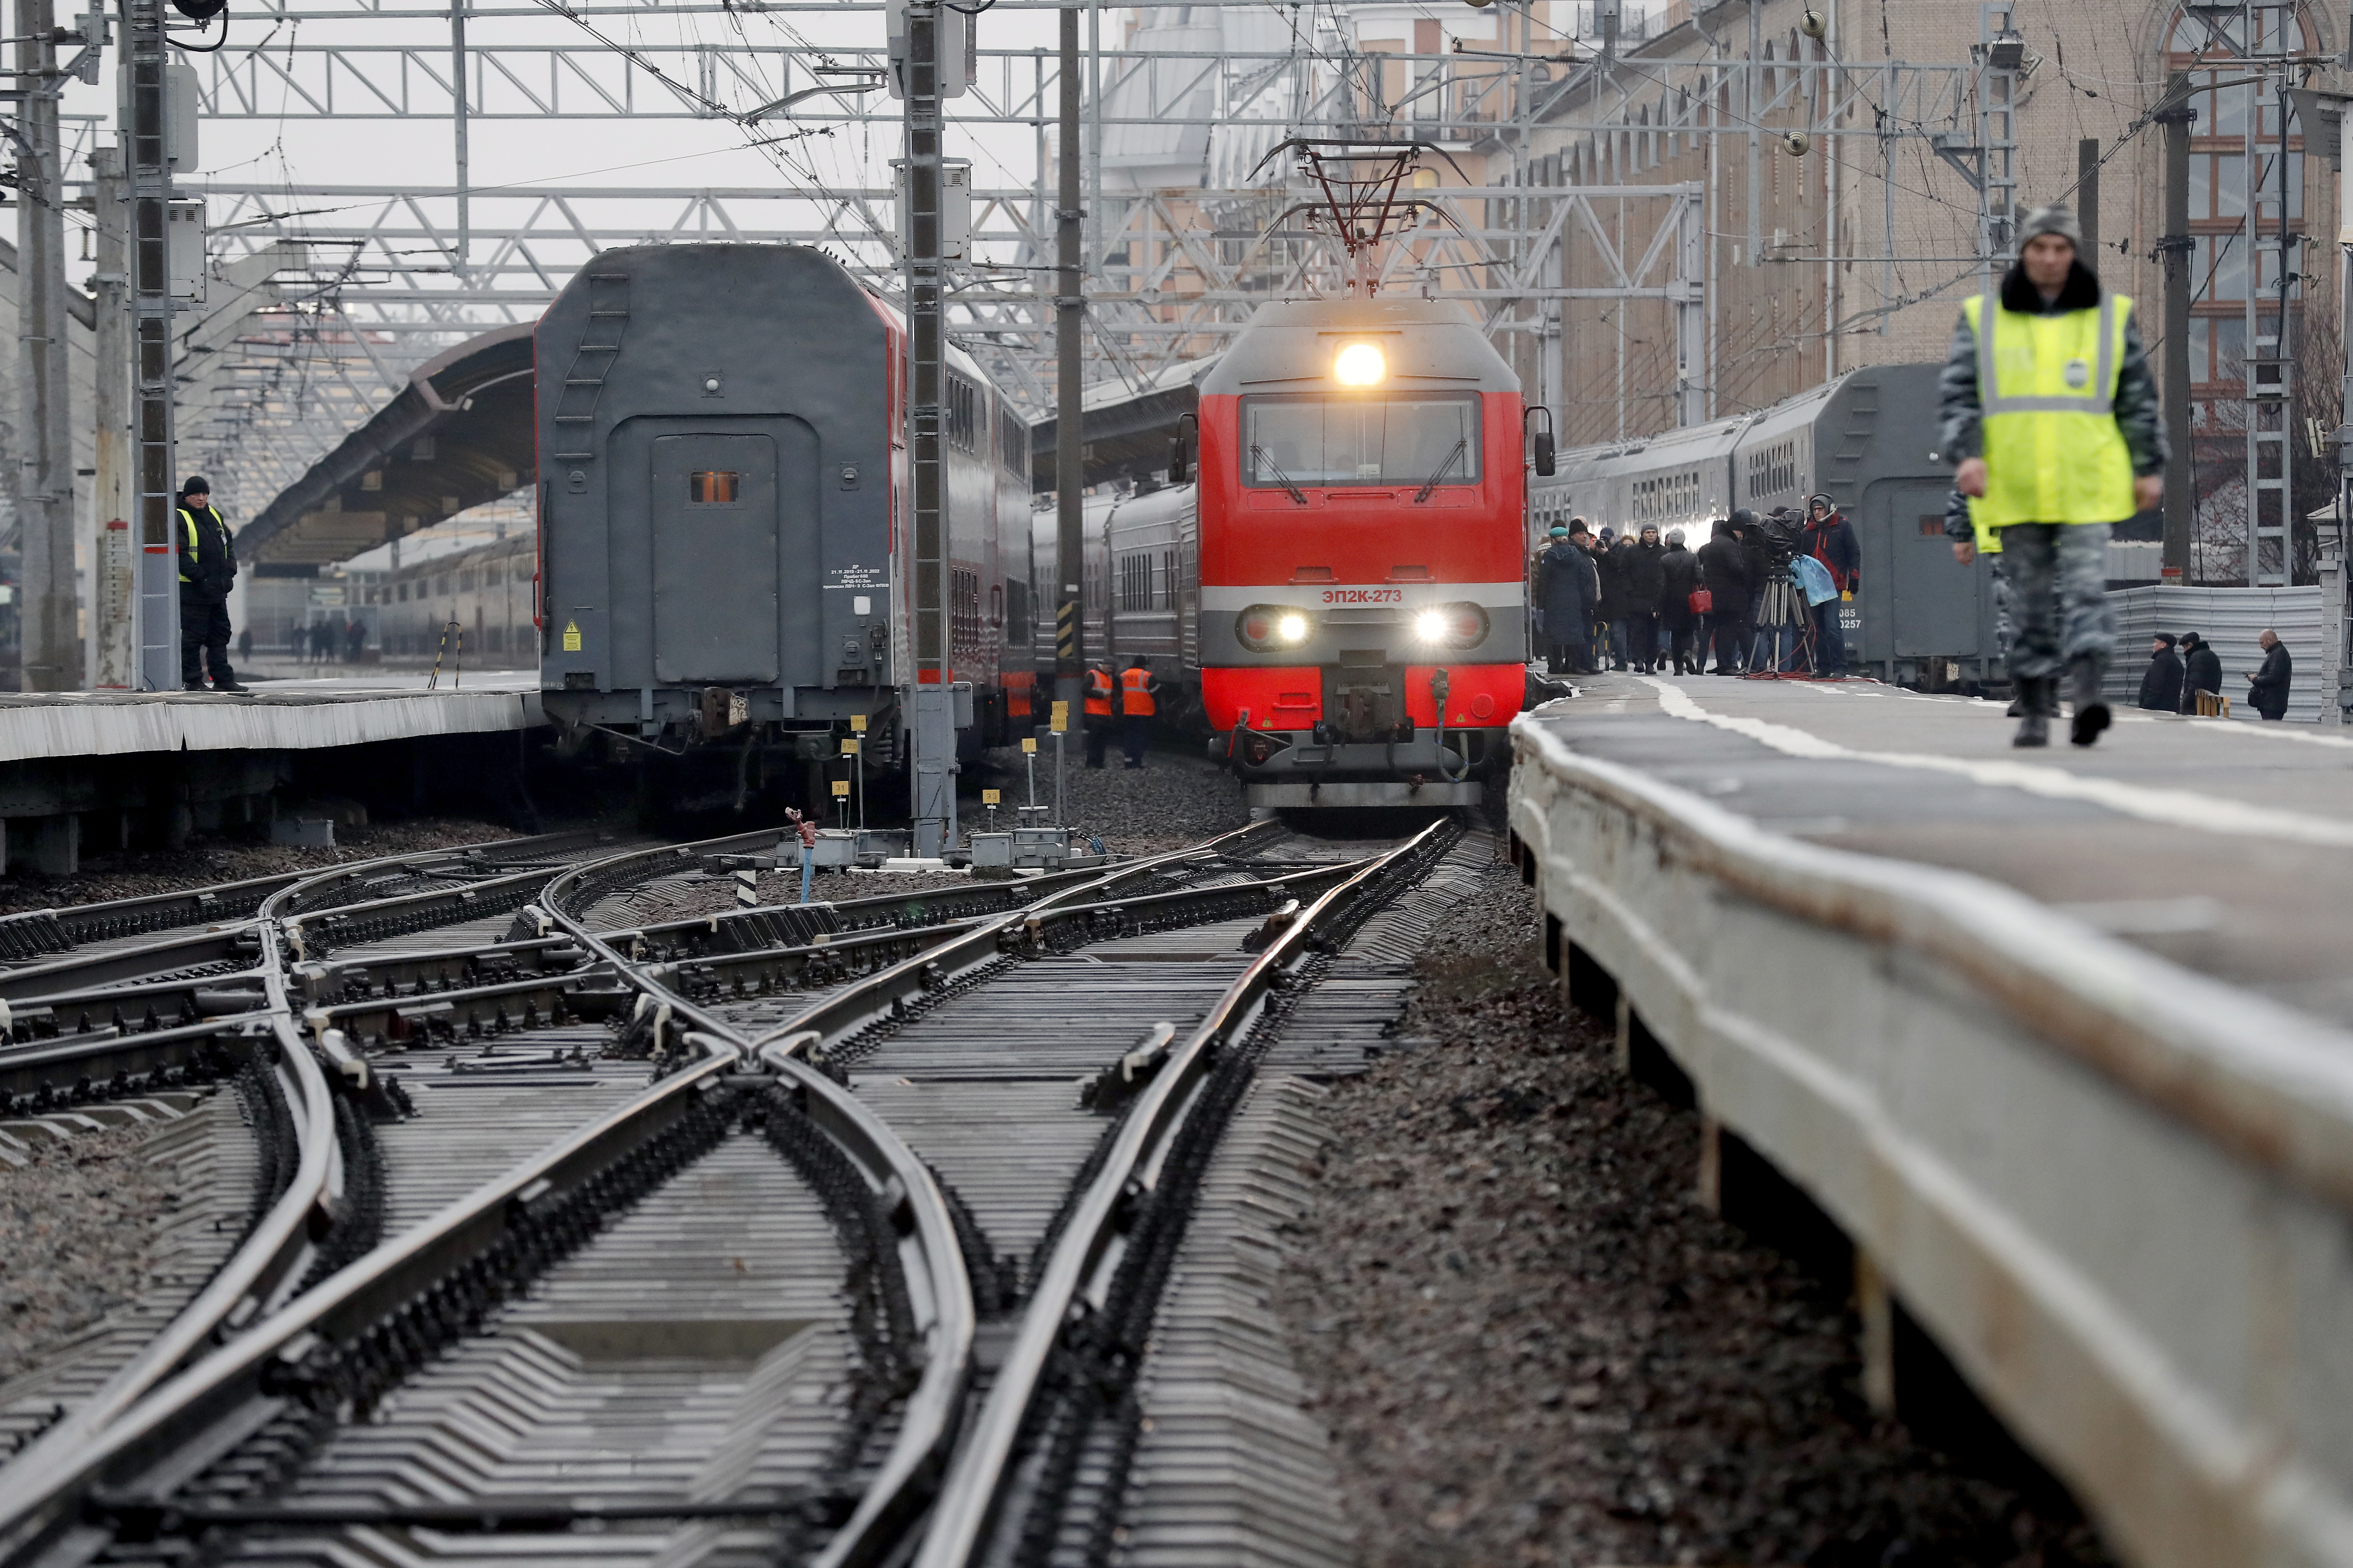
<path id="1" fill-rule="evenodd" d="M 209 691 L 0 691 L 0 762 L 134 752 L 318 750 L 532 729 L 539 672 L 499 670 L 452 689 L 424 677 L 254 682 Z"/>

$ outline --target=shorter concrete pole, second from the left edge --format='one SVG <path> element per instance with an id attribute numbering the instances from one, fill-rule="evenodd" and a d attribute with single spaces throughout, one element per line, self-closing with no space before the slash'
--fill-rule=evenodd
<path id="1" fill-rule="evenodd" d="M 96 275 L 96 480 L 92 512 L 92 607 L 89 684 L 129 689 L 139 679 L 132 625 L 132 289 L 129 289 L 129 181 L 122 148 L 99 148 L 89 158 L 96 174 L 92 219 L 99 230 Z"/>

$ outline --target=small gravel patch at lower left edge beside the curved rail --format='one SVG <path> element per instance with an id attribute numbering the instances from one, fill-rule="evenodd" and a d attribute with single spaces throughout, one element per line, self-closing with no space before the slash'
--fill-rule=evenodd
<path id="1" fill-rule="evenodd" d="M 139 1157 L 153 1131 L 28 1133 L 31 1164 L 0 1166 L 0 1385 L 148 1286 L 158 1220 L 179 1206 Z"/>

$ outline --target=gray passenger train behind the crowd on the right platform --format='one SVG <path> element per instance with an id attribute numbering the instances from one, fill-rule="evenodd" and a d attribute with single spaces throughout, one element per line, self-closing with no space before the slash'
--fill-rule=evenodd
<path id="1" fill-rule="evenodd" d="M 2000 679 L 1991 567 L 1962 567 L 1944 536 L 1953 473 L 1934 456 L 1937 371 L 1878 364 L 1755 414 L 1562 451 L 1551 480 L 1529 480 L 1529 552 L 1572 515 L 1595 529 L 1685 529 L 1697 550 L 1734 508 L 1802 508 L 1821 491 L 1864 550 L 1849 661 L 1904 684 L 1941 684 L 1937 661 Z"/>

